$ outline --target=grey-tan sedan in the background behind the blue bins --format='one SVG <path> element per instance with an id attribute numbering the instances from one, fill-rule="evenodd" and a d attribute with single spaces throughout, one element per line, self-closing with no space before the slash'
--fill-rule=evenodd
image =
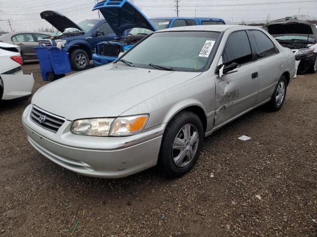
<path id="1" fill-rule="evenodd" d="M 34 47 L 39 46 L 39 40 L 50 37 L 42 32 L 14 32 L 0 36 L 0 42 L 20 46 L 23 59 L 37 59 Z"/>

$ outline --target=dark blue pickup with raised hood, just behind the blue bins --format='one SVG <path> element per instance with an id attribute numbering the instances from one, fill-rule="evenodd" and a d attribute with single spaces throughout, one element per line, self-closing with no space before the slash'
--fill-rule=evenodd
<path id="1" fill-rule="evenodd" d="M 44 11 L 40 15 L 52 24 L 59 34 L 41 39 L 39 44 L 56 46 L 60 43 L 68 53 L 72 69 L 76 71 L 88 68 L 97 43 L 117 38 L 105 19 L 89 19 L 76 24 L 56 11 Z"/>

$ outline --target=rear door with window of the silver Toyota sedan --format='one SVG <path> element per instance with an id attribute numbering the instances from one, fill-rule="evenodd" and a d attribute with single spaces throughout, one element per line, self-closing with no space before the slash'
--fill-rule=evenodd
<path id="1" fill-rule="evenodd" d="M 247 32 L 255 52 L 255 64 L 259 67 L 257 104 L 260 104 L 272 96 L 275 85 L 282 75 L 284 57 L 264 32 L 259 30 L 249 30 Z"/>

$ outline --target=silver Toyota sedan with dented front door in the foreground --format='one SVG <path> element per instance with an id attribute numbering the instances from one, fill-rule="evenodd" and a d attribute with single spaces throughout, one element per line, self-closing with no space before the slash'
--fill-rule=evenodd
<path id="1" fill-rule="evenodd" d="M 79 174 L 159 165 L 178 177 L 216 129 L 264 104 L 278 111 L 294 74 L 293 52 L 260 28 L 167 29 L 112 64 L 43 86 L 22 120 L 36 150 Z"/>

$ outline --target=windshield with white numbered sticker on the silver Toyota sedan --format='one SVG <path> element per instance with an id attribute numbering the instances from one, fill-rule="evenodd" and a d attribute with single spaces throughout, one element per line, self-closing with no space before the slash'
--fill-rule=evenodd
<path id="1" fill-rule="evenodd" d="M 219 35 L 200 31 L 154 33 L 122 59 L 140 68 L 153 68 L 152 64 L 172 71 L 204 72 Z"/>

